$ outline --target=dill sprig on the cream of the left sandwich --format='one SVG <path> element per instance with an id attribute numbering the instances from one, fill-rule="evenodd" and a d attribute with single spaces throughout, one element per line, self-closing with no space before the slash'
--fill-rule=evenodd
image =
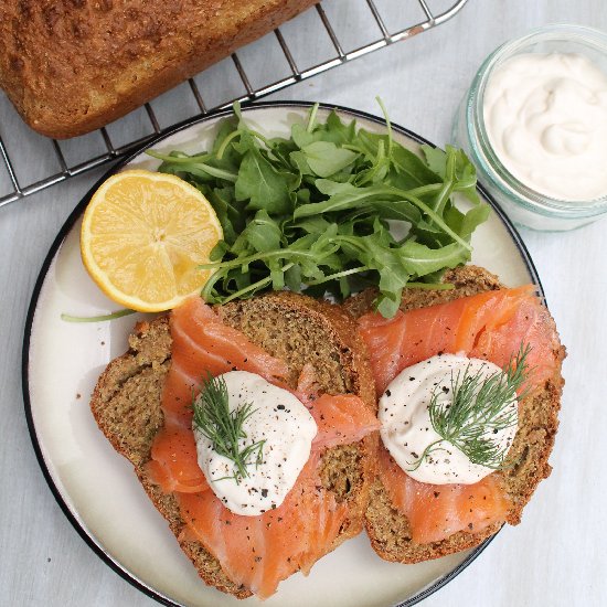
<path id="1" fill-rule="evenodd" d="M 233 476 L 215 480 L 234 479 L 239 483 L 243 478 L 248 477 L 246 467 L 252 464 L 259 466 L 263 460 L 265 439 L 241 447 L 241 440 L 247 437 L 243 425 L 257 409 L 253 408 L 253 403 L 245 403 L 230 411 L 225 380 L 211 375 L 204 380 L 193 409 L 196 429 L 211 440 L 214 451 L 234 462 Z"/>

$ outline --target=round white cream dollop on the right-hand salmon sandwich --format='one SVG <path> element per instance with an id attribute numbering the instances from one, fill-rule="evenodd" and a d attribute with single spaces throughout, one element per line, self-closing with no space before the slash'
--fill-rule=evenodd
<path id="1" fill-rule="evenodd" d="M 503 373 L 488 361 L 440 354 L 403 370 L 380 398 L 382 440 L 396 464 L 419 482 L 472 484 L 493 472 L 491 468 L 472 464 L 458 448 L 440 440 L 430 423 L 428 406 L 433 394 L 438 395 L 438 403 L 451 403 L 451 377 L 456 380 L 458 373 L 462 377 L 466 370 L 471 375 L 481 373 L 484 377 Z M 508 407 L 518 417 L 518 402 L 513 401 Z M 491 438 L 508 449 L 515 434 L 517 425 L 492 434 Z M 435 440 L 440 443 L 413 470 L 426 447 Z"/>

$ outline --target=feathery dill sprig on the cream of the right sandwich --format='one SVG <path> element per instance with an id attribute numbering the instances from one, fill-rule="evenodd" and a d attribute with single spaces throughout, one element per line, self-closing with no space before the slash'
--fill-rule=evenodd
<path id="1" fill-rule="evenodd" d="M 526 358 L 531 347 L 521 348 L 510 358 L 502 372 L 486 376 L 482 371 L 464 374 L 451 372 L 451 400 L 439 400 L 441 390 L 433 392 L 428 413 L 436 434 L 440 436 L 428 445 L 409 471 L 416 470 L 432 452 L 445 450 L 438 445 L 444 440 L 457 447 L 472 464 L 503 470 L 508 468 L 508 447 L 502 447 L 494 436 L 517 424 L 518 412 L 510 406 L 529 374 Z M 524 398 L 526 391 L 519 394 Z"/>

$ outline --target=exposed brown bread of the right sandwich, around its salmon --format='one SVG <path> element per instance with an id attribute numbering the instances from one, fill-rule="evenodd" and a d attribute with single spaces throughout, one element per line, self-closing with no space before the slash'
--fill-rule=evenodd
<path id="1" fill-rule="evenodd" d="M 452 290 L 406 289 L 401 309 L 407 311 L 424 308 L 503 288 L 497 276 L 476 266 L 449 270 L 445 281 L 452 283 L 455 288 Z M 375 297 L 376 291 L 369 289 L 350 298 L 344 307 L 358 318 L 371 310 Z M 552 318 L 550 322 L 554 327 Z M 555 327 L 554 330 L 556 331 Z M 565 358 L 564 347 L 558 344 L 552 354 L 556 363 L 553 376 L 545 382 L 540 392 L 524 398 L 520 406 L 519 429 L 510 451 L 515 466 L 494 472 L 511 502 L 505 521 L 477 533 L 460 531 L 440 542 L 418 544 L 411 537 L 407 518 L 393 508 L 382 481 L 376 478 L 371 488 L 371 500 L 366 511 L 366 531 L 373 549 L 382 558 L 400 563 L 418 563 L 437 558 L 480 544 L 496 533 L 503 522 L 510 524 L 520 522 L 523 507 L 539 482 L 546 478 L 552 469 L 547 460 L 558 426 L 557 414 L 564 383 L 561 375 L 561 364 Z M 379 448 L 384 447 L 379 445 Z"/>

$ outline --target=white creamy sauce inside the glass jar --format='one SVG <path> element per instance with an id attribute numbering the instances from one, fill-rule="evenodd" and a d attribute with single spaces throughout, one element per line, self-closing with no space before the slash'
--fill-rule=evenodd
<path id="1" fill-rule="evenodd" d="M 607 194 L 607 74 L 567 53 L 525 53 L 498 66 L 483 98 L 487 134 L 519 181 L 560 200 Z"/>

